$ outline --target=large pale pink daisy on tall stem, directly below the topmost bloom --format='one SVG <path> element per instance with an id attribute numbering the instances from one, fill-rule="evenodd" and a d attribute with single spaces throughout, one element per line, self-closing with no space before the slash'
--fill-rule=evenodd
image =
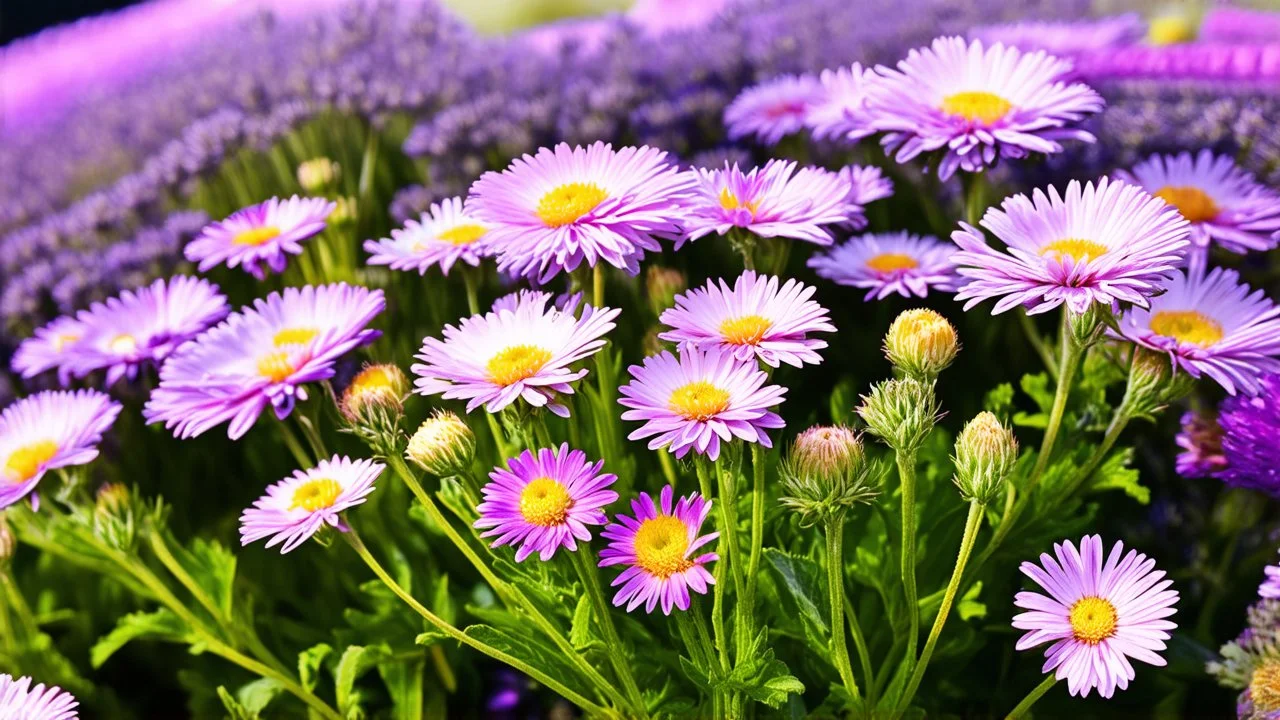
<path id="1" fill-rule="evenodd" d="M 1015 195 L 989 208 L 982 227 L 1007 249 L 987 245 L 982 232 L 960 223 L 951 256 L 969 282 L 956 293 L 965 310 L 1000 297 L 992 314 L 1016 305 L 1029 314 L 1062 305 L 1076 314 L 1094 302 L 1147 306 L 1187 250 L 1188 223 L 1178 210 L 1142 188 L 1103 178 L 1066 195 L 1050 187 Z"/>

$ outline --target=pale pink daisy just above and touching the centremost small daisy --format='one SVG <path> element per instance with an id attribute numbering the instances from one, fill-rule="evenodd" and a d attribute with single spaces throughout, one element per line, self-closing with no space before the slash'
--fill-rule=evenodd
<path id="1" fill-rule="evenodd" d="M 730 288 L 722 281 L 676 296 L 659 322 L 672 329 L 658 337 L 694 347 L 724 347 L 739 360 L 759 357 L 771 368 L 822 363 L 824 341 L 809 333 L 836 332 L 827 309 L 812 300 L 814 288 L 771 275 L 742 273 Z"/>

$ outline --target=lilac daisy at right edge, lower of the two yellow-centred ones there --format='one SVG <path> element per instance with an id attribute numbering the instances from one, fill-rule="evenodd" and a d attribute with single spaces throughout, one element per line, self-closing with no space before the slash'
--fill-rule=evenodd
<path id="1" fill-rule="evenodd" d="M 1208 375 L 1226 392 L 1257 395 L 1265 373 L 1280 372 L 1280 306 L 1249 292 L 1235 270 L 1174 273 L 1151 307 L 1120 319 L 1120 336 L 1167 352 L 1192 377 Z"/>

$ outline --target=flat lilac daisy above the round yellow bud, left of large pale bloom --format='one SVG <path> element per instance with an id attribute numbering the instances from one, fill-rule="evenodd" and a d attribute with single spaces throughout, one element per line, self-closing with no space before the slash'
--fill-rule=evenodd
<path id="1" fill-rule="evenodd" d="M 927 297 L 929 288 L 955 292 L 960 286 L 951 263 L 955 246 L 933 236 L 909 232 L 868 233 L 809 258 L 819 278 L 867 290 L 867 300 L 892 293 Z"/>

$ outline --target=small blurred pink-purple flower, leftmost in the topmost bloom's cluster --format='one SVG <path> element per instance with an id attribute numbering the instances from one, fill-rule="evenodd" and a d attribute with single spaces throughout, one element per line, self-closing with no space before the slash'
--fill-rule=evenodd
<path id="1" fill-rule="evenodd" d="M 804 129 L 809 113 L 828 91 L 813 76 L 780 76 L 753 85 L 724 108 L 730 140 L 754 136 L 764 145 Z"/>

